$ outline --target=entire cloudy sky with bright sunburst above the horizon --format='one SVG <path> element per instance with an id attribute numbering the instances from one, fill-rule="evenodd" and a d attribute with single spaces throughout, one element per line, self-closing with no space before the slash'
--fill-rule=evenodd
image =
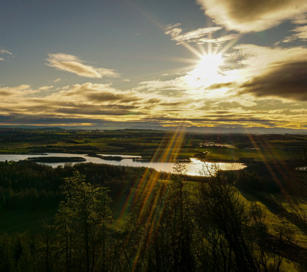
<path id="1" fill-rule="evenodd" d="M 307 1 L 3 1 L 0 126 L 307 131 Z"/>

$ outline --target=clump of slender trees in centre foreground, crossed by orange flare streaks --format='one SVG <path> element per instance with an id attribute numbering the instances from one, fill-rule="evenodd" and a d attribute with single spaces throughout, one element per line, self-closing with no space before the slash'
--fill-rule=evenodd
<path id="1" fill-rule="evenodd" d="M 127 266 L 132 271 L 194 271 L 194 220 L 185 165 L 177 162 L 167 182 L 144 178 L 126 224 Z M 130 262 L 129 262 L 130 260 Z"/>

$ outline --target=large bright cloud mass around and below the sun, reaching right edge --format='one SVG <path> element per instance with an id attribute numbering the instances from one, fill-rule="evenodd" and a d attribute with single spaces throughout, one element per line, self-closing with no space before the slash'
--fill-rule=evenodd
<path id="1" fill-rule="evenodd" d="M 218 73 L 206 77 L 202 70 L 196 67 L 175 79 L 141 82 L 133 90 L 168 94 L 173 101 L 170 101 L 168 108 L 165 104 L 159 103 L 161 115 L 166 116 L 166 113 L 169 113 L 168 118 L 185 119 L 187 122 L 196 122 L 193 118 L 199 118 L 203 119 L 202 125 L 209 122 L 209 119 L 212 120 L 212 124 L 227 123 L 226 119 L 214 119 L 213 115 L 204 114 L 207 110 L 234 111 L 234 107 L 246 109 L 246 112 L 236 113 L 237 123 L 242 122 L 241 124 L 263 125 L 265 120 L 272 118 L 274 120 L 270 124 L 279 126 L 285 122 L 292 126 L 295 122 L 301 124 L 307 121 L 306 117 L 298 114 L 295 115 L 294 121 L 293 114 L 276 114 L 272 117 L 272 114 L 268 113 L 275 105 L 278 110 L 284 109 L 284 105 L 293 104 L 293 100 L 302 101 L 307 106 L 306 102 L 303 102 L 306 101 L 304 90 L 307 86 L 307 75 L 303 70 L 304 66 L 307 67 L 306 48 L 238 45 L 233 49 L 233 53 L 224 56 L 226 63 L 232 60 L 232 66 L 225 67 Z M 279 85 L 283 86 L 283 89 L 279 88 Z M 257 87 L 264 91 L 260 92 Z M 176 104 L 178 101 L 181 103 Z M 261 112 L 261 108 L 266 110 Z M 253 116 L 254 118 L 250 118 Z M 230 119 L 228 121 L 235 122 Z"/>

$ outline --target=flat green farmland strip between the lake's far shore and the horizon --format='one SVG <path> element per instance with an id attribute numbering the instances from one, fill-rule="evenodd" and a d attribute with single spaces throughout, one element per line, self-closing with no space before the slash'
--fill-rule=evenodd
<path id="1" fill-rule="evenodd" d="M 126 154 L 174 160 L 190 158 L 196 150 L 207 159 L 240 161 L 291 160 L 303 144 L 300 135 L 196 134 L 155 130 L 27 130 L 0 129 L 0 153 Z M 205 158 L 205 159 L 206 159 Z"/>

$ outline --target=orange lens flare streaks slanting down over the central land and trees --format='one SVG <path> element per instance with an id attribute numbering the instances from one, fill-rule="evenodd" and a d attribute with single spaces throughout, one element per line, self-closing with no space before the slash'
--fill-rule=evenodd
<path id="1" fill-rule="evenodd" d="M 182 141 L 185 139 L 185 132 L 180 128 L 178 131 L 172 132 L 166 135 L 157 148 L 152 160 L 157 159 L 168 161 L 175 160 L 181 150 Z M 170 173 L 166 173 L 165 177 L 161 177 L 161 173 L 154 169 L 146 168 L 142 177 L 138 179 L 133 188 L 131 188 L 129 195 L 127 196 L 125 203 L 120 212 L 119 221 L 121 221 L 130 212 L 133 205 L 137 205 L 139 214 L 137 215 L 134 229 L 127 235 L 123 242 L 123 247 L 126 247 L 130 235 L 137 231 L 138 226 L 143 222 L 142 235 L 140 235 L 139 246 L 136 248 L 136 252 L 133 257 L 131 271 L 136 270 L 136 265 L 140 257 L 140 253 L 144 247 L 149 245 L 149 241 L 157 235 L 159 230 L 161 216 L 163 214 L 165 204 L 167 203 L 166 191 L 168 190 L 168 184 L 164 184 L 159 180 L 169 179 Z M 157 210 L 157 203 L 160 203 L 160 209 Z"/>

